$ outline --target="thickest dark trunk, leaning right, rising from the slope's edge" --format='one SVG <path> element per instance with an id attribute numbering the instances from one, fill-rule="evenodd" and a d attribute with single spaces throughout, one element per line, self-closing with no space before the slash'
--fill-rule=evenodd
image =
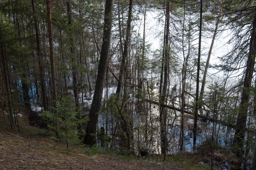
<path id="1" fill-rule="evenodd" d="M 112 27 L 112 11 L 113 0 L 106 0 L 105 3 L 105 17 L 104 17 L 104 31 L 102 39 L 102 48 L 99 59 L 99 69 L 96 79 L 93 102 L 90 108 L 90 121 L 86 127 L 86 135 L 84 136 L 84 144 L 92 146 L 96 143 L 96 129 L 98 122 L 98 112 L 102 101 L 102 92 L 105 84 L 106 68 L 108 65 L 108 52 L 111 43 L 111 27 Z"/>

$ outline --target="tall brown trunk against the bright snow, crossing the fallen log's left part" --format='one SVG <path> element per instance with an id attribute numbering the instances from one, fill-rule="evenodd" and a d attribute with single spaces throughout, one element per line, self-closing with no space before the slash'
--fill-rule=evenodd
<path id="1" fill-rule="evenodd" d="M 164 79 L 163 79 L 163 92 L 160 94 L 160 136 L 161 136 L 161 153 L 166 156 L 166 108 L 163 106 L 166 101 L 167 85 L 168 85 L 168 58 L 169 58 L 169 23 L 170 23 L 170 2 L 166 6 L 166 37 L 165 37 L 165 50 L 164 55 Z"/>

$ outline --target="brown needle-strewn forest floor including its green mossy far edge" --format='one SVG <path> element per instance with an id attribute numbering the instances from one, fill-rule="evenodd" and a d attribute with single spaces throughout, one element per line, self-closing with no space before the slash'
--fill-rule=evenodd
<path id="1" fill-rule="evenodd" d="M 0 118 L 1 120 L 1 118 Z M 3 120 L 3 119 L 2 119 Z M 43 129 L 20 122 L 20 133 L 0 121 L 1 170 L 206 170 L 191 155 L 160 159 L 123 156 L 111 151 L 72 146 L 50 139 Z M 189 153 L 190 154 L 190 153 Z"/>

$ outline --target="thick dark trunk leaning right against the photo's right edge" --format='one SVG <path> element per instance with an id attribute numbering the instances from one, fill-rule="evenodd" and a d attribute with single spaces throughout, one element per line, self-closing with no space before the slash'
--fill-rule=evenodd
<path id="1" fill-rule="evenodd" d="M 255 64 L 256 53 L 256 17 L 254 17 L 252 25 L 253 30 L 251 32 L 250 49 L 245 70 L 244 88 L 242 91 L 242 98 L 237 118 L 236 132 L 234 136 L 234 153 L 236 153 L 236 155 L 241 159 L 237 167 L 241 167 L 242 159 L 244 157 L 244 137 L 246 131 L 250 87 L 253 78 L 253 69 Z"/>

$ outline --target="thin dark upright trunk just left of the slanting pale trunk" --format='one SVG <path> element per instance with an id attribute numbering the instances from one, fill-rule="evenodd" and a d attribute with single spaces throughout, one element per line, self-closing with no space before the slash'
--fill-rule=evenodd
<path id="1" fill-rule="evenodd" d="M 196 146 L 197 121 L 198 121 L 197 119 L 198 119 L 199 74 L 200 74 L 200 59 L 201 59 L 202 14 L 203 14 L 203 0 L 201 0 L 201 5 L 200 5 L 198 64 L 197 64 L 196 94 L 195 94 L 195 119 L 194 119 L 194 127 L 193 127 L 193 151 L 195 151 L 195 146 Z"/>

